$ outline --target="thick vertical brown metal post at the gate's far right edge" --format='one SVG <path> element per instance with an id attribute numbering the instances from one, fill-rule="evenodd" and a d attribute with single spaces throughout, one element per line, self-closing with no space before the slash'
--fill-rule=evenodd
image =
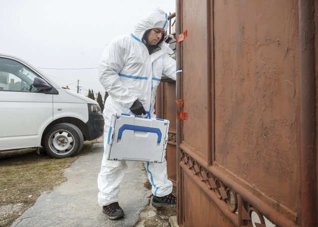
<path id="1" fill-rule="evenodd" d="M 317 226 L 316 87 L 314 0 L 299 0 L 300 129 L 302 210 L 299 226 Z"/>

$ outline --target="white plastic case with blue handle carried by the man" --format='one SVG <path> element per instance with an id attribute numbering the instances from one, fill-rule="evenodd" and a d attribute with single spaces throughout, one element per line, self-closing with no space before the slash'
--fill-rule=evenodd
<path id="1" fill-rule="evenodd" d="M 169 121 L 130 114 L 112 115 L 107 137 L 107 160 L 162 162 Z"/>

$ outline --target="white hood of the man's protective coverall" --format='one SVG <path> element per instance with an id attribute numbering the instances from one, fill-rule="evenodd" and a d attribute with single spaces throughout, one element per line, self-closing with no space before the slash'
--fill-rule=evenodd
<path id="1" fill-rule="evenodd" d="M 162 9 L 155 9 L 136 24 L 133 35 L 142 40 L 144 33 L 153 28 L 168 28 L 168 15 Z"/>

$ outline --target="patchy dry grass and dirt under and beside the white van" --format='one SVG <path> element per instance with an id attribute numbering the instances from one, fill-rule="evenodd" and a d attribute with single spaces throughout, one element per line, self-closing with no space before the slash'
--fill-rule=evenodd
<path id="1" fill-rule="evenodd" d="M 79 155 L 62 159 L 48 156 L 43 149 L 0 152 L 0 226 L 9 227 L 31 207 L 42 192 L 51 191 L 66 180 L 64 169 L 80 155 L 91 151 L 97 140 L 84 142 Z"/>

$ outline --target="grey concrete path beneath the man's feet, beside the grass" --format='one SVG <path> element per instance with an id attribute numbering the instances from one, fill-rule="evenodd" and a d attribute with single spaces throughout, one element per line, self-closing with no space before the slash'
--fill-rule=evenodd
<path id="1" fill-rule="evenodd" d="M 65 169 L 67 181 L 50 193 L 42 193 L 34 206 L 11 227 L 133 227 L 140 212 L 149 204 L 142 162 L 127 162 L 128 170 L 119 194 L 125 217 L 111 221 L 97 203 L 97 175 L 102 155 L 103 144 L 94 144 L 90 153 L 80 156 Z"/>

